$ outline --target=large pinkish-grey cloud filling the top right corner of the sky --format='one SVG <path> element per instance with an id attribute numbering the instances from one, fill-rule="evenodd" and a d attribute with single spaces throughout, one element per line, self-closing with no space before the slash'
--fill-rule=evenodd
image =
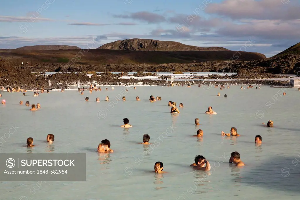
<path id="1" fill-rule="evenodd" d="M 280 0 L 225 0 L 205 8 L 209 14 L 237 19 L 295 20 L 300 19 L 300 5 L 296 1 L 283 4 Z"/>

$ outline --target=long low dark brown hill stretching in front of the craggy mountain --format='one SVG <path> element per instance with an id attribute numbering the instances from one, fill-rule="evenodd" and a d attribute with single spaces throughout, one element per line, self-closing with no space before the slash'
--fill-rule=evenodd
<path id="1" fill-rule="evenodd" d="M 82 65 L 102 64 L 164 64 L 198 63 L 203 61 L 232 60 L 239 56 L 239 61 L 266 59 L 261 53 L 236 51 L 121 51 L 107 49 L 87 50 L 7 50 L 0 49 L 0 57 L 11 63 L 71 63 Z M 236 58 L 236 57 L 235 57 Z"/>

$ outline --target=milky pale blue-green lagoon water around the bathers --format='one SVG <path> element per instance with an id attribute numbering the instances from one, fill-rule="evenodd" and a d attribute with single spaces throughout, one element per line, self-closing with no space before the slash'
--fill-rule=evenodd
<path id="1" fill-rule="evenodd" d="M 6 100 L 0 105 L 0 137 L 5 140 L 1 153 L 86 153 L 85 182 L 46 182 L 39 187 L 37 182 L 1 182 L 1 200 L 299 199 L 300 92 L 255 87 L 137 86 L 126 92 L 114 86 L 84 95 L 76 90 L 40 92 L 39 97 L 33 92 L 26 96 L 1 92 Z M 150 95 L 162 100 L 150 103 Z M 111 101 L 104 101 L 105 96 Z M 127 101 L 116 101 L 122 96 Z M 141 101 L 135 101 L 136 96 Z M 101 102 L 96 103 L 96 97 Z M 19 105 L 21 100 L 40 103 L 41 109 L 31 112 Z M 170 114 L 169 100 L 184 104 L 179 114 Z M 217 115 L 204 114 L 208 106 Z M 132 128 L 120 127 L 125 117 Z M 195 118 L 200 126 L 194 125 Z M 268 120 L 274 127 L 263 126 Z M 18 128 L 4 138 L 12 126 Z M 241 136 L 220 135 L 231 127 Z M 191 137 L 198 129 L 204 132 L 202 139 Z M 53 144 L 44 142 L 49 133 L 55 135 Z M 143 134 L 150 135 L 152 148 L 138 144 Z M 262 136 L 261 146 L 255 145 L 255 135 Z M 35 147 L 24 147 L 28 137 L 34 138 Z M 110 140 L 113 153 L 96 152 L 103 139 Z M 240 153 L 246 166 L 228 163 L 233 151 Z M 189 167 L 199 154 L 210 161 L 211 171 Z M 168 173 L 153 173 L 156 161 L 163 162 Z"/>

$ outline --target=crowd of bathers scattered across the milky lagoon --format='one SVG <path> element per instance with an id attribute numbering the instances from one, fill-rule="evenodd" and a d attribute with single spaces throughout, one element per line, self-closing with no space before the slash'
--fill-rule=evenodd
<path id="1" fill-rule="evenodd" d="M 190 85 L 188 85 L 188 87 L 190 87 Z M 200 87 L 200 85 L 199 85 L 199 87 Z M 219 85 L 215 85 L 215 87 L 219 87 Z M 249 85 L 247 88 L 249 89 L 249 88 L 252 88 L 252 87 L 253 86 Z M 225 88 L 224 85 L 220 85 L 221 90 L 224 89 L 224 88 Z M 230 87 L 227 86 L 227 88 L 229 89 Z M 1 89 L 4 89 L 4 88 L 2 87 Z M 26 90 L 21 90 L 20 88 L 9 88 L 9 87 L 7 87 L 6 89 L 7 89 L 7 92 L 27 92 Z M 113 89 L 114 88 L 112 87 L 112 90 Z M 134 89 L 136 89 L 136 87 L 134 87 Z M 242 86 L 241 86 L 241 89 L 243 89 Z M 260 89 L 260 87 L 256 87 L 256 89 Z M 78 92 L 80 92 L 80 94 L 83 95 L 84 90 L 85 90 L 85 88 L 82 88 L 82 89 L 79 88 Z M 101 88 L 100 87 L 97 88 L 96 85 L 91 85 L 88 88 L 88 90 L 89 90 L 90 93 L 92 93 L 93 91 L 101 91 Z M 106 88 L 106 90 L 108 90 L 108 88 Z M 300 91 L 300 88 L 298 90 Z M 43 88 L 41 88 L 41 92 L 44 93 Z M 61 89 L 61 92 L 64 92 L 64 89 Z M 47 90 L 47 93 L 50 93 L 49 90 Z M 25 96 L 25 93 L 23 93 L 23 95 Z M 285 95 L 285 94 L 283 94 L 283 95 Z M 2 95 L 0 94 L 0 97 L 1 96 Z M 34 92 L 33 96 L 38 97 L 39 93 Z M 220 93 L 218 93 L 217 96 L 220 96 Z M 225 95 L 225 97 L 227 97 L 227 95 Z M 85 101 L 88 101 L 88 100 L 89 100 L 89 98 L 85 97 Z M 140 98 L 137 96 L 136 100 L 140 101 Z M 156 98 L 154 98 L 153 95 L 150 96 L 150 99 L 149 99 L 150 102 L 155 102 L 157 100 L 161 101 L 161 97 L 157 96 Z M 108 96 L 106 96 L 105 101 L 109 101 Z M 125 96 L 122 97 L 122 101 L 126 101 Z M 5 102 L 6 101 L 4 99 L 2 99 L 1 103 L 5 104 Z M 100 102 L 100 99 L 98 97 L 96 98 L 96 102 Z M 22 105 L 23 102 L 20 101 L 19 104 Z M 29 101 L 26 101 L 25 105 L 30 106 Z M 180 113 L 179 109 L 176 107 L 176 102 L 169 101 L 168 105 L 171 107 L 170 113 Z M 41 108 L 41 105 L 38 103 L 36 106 L 33 104 L 31 107 L 32 108 L 30 109 L 30 111 L 36 111 L 36 110 Z M 179 107 L 182 108 L 183 104 L 180 103 Z M 205 114 L 217 114 L 217 113 L 212 110 L 211 106 L 209 106 L 208 110 L 205 111 Z M 131 127 L 133 127 L 131 124 L 129 124 L 128 118 L 124 118 L 123 123 L 124 123 L 124 125 L 121 126 L 122 128 L 131 128 Z M 270 120 L 270 121 L 268 121 L 267 126 L 268 127 L 273 127 L 273 124 L 274 124 L 273 121 Z M 195 119 L 195 125 L 196 126 L 200 125 L 199 118 Z M 193 136 L 194 137 L 203 137 L 203 130 L 198 129 L 197 134 L 193 135 Z M 239 137 L 240 135 L 237 133 L 237 129 L 235 127 L 232 127 L 230 129 L 230 133 L 225 133 L 225 132 L 222 131 L 221 136 L 224 136 L 224 137 L 225 136 L 226 137 Z M 143 143 L 140 143 L 140 144 L 150 145 L 151 143 L 149 143 L 149 141 L 150 141 L 150 136 L 148 134 L 144 134 L 143 135 Z M 49 144 L 52 144 L 54 142 L 54 135 L 53 134 L 48 134 L 47 138 L 46 138 L 46 142 L 48 142 Z M 255 143 L 258 144 L 258 145 L 262 143 L 262 137 L 260 135 L 255 136 Z M 112 153 L 114 151 L 112 149 L 110 149 L 110 146 L 111 146 L 110 141 L 108 139 L 104 139 L 98 145 L 97 151 L 99 153 Z M 27 138 L 26 147 L 35 147 L 35 145 L 33 145 L 33 138 Z M 241 161 L 240 154 L 237 151 L 231 153 L 229 163 L 234 163 L 236 166 L 244 166 L 245 165 L 244 162 Z M 202 156 L 202 155 L 197 155 L 194 159 L 194 163 L 191 164 L 190 166 L 192 166 L 194 169 L 203 170 L 203 171 L 209 171 L 211 169 L 211 165 L 210 165 L 209 161 L 207 159 L 205 159 L 205 157 Z M 154 172 L 155 173 L 158 173 L 158 174 L 166 173 L 166 171 L 163 171 L 163 169 L 164 169 L 164 165 L 163 165 L 162 162 L 160 162 L 160 161 L 155 162 L 155 165 L 154 165 Z"/>

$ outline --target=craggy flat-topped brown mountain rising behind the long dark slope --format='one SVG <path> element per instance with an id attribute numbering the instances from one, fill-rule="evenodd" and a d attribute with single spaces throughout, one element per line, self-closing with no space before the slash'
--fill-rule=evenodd
<path id="1" fill-rule="evenodd" d="M 98 49 L 132 51 L 229 51 L 223 47 L 196 47 L 173 41 L 138 38 L 110 42 L 98 47 Z"/>

